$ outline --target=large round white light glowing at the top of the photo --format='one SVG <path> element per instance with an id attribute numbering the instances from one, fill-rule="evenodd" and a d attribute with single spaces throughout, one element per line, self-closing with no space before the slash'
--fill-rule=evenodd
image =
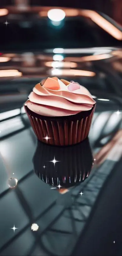
<path id="1" fill-rule="evenodd" d="M 65 12 L 61 9 L 51 9 L 48 11 L 48 18 L 52 21 L 61 21 L 65 18 Z"/>

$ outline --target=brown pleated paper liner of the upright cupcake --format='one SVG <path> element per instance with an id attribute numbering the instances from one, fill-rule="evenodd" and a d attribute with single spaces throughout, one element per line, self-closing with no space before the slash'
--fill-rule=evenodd
<path id="1" fill-rule="evenodd" d="M 89 111 L 61 118 L 49 118 L 35 114 L 27 106 L 25 106 L 25 111 L 40 141 L 50 145 L 67 146 L 77 144 L 87 138 L 95 105 Z M 45 139 L 46 136 L 48 136 L 48 140 Z"/>

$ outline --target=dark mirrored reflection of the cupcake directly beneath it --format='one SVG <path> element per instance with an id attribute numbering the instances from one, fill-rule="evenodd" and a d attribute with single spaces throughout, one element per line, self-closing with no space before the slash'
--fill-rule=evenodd
<path id="1" fill-rule="evenodd" d="M 93 156 L 89 140 L 72 146 L 52 146 L 38 141 L 33 157 L 38 177 L 63 191 L 83 182 L 91 172 Z"/>

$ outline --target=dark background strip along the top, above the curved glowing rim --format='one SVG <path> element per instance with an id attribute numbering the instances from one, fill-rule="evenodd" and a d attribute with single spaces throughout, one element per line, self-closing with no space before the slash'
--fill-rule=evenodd
<path id="1" fill-rule="evenodd" d="M 18 5 L 19 0 L 0 0 L 0 7 L 4 7 L 6 5 Z M 76 1 L 47 1 L 47 0 L 23 0 L 24 4 L 28 4 L 31 6 L 62 6 L 62 7 L 73 7 L 73 8 L 81 8 L 81 9 L 91 9 L 103 12 L 116 20 L 118 23 L 122 24 L 122 1 L 121 0 L 76 0 Z"/>

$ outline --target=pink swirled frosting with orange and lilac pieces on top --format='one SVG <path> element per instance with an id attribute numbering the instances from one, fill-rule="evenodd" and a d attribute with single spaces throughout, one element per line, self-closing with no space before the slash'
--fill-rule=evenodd
<path id="1" fill-rule="evenodd" d="M 47 78 L 33 88 L 25 105 L 36 114 L 68 116 L 91 110 L 96 103 L 90 92 L 74 81 Z"/>

